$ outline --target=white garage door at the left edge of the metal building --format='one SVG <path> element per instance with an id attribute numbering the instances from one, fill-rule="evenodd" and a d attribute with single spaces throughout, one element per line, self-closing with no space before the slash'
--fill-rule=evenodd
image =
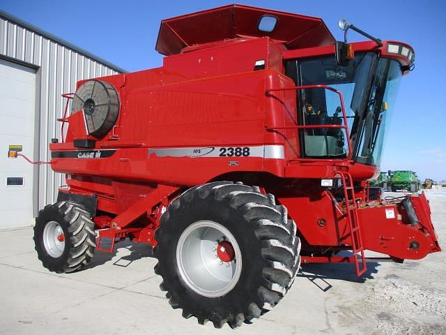
<path id="1" fill-rule="evenodd" d="M 33 165 L 8 158 L 9 145 L 33 158 L 36 71 L 0 59 L 0 229 L 33 222 Z"/>

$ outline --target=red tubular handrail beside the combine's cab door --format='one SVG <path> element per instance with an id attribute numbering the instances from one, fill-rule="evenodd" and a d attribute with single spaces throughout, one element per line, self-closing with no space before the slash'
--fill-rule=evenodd
<path id="1" fill-rule="evenodd" d="M 302 126 L 285 126 L 285 127 L 273 127 L 273 128 L 266 128 L 267 131 L 275 131 L 279 129 L 312 129 L 312 128 L 342 128 L 346 130 L 346 137 L 347 137 L 347 147 L 348 147 L 348 155 L 346 158 L 341 158 L 340 161 L 348 161 L 351 160 L 351 157 L 353 156 L 353 150 L 351 147 L 350 142 L 350 131 L 348 131 L 348 124 L 347 124 L 347 114 L 346 109 L 344 107 L 344 96 L 342 95 L 341 91 L 338 91 L 337 89 L 334 89 L 327 85 L 302 85 L 302 86 L 293 86 L 293 87 L 286 87 L 282 89 L 267 89 L 266 94 L 270 94 L 270 92 L 276 92 L 276 91 L 297 91 L 299 89 L 328 89 L 328 91 L 332 91 L 336 93 L 339 96 L 339 100 L 341 101 L 341 110 L 342 110 L 342 119 L 344 121 L 344 126 L 338 125 L 338 124 L 314 124 L 314 125 L 302 125 Z M 272 95 L 272 94 L 270 94 Z M 336 159 L 336 158 L 334 158 Z M 299 158 L 298 160 L 293 159 L 293 161 L 315 161 L 315 160 L 323 160 L 323 158 Z"/>

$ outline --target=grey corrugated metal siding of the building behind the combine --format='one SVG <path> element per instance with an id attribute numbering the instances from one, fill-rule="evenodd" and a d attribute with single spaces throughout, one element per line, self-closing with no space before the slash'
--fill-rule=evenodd
<path id="1" fill-rule="evenodd" d="M 39 67 L 40 82 L 36 85 L 40 91 L 36 97 L 36 103 L 40 104 L 40 126 L 36 133 L 39 148 L 38 157 L 35 155 L 33 159 L 40 161 L 49 161 L 48 143 L 53 137 L 61 137 L 61 124 L 56 121 L 63 116 L 65 101 L 61 94 L 75 91 L 78 80 L 120 73 L 5 17 L 0 17 L 0 54 Z M 64 176 L 55 174 L 47 165 L 40 165 L 38 169 L 38 207 L 41 209 L 56 201 L 57 188 L 63 184 Z"/>

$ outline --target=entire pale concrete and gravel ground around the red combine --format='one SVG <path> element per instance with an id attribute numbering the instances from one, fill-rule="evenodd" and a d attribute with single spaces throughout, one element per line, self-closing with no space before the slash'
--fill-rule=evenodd
<path id="1" fill-rule="evenodd" d="M 446 189 L 426 194 L 445 249 Z M 446 334 L 444 252 L 369 263 L 359 279 L 353 265 L 305 265 L 273 311 L 231 330 L 171 309 L 144 245 L 124 242 L 84 271 L 53 274 L 33 251 L 32 228 L 0 237 L 0 334 Z"/>

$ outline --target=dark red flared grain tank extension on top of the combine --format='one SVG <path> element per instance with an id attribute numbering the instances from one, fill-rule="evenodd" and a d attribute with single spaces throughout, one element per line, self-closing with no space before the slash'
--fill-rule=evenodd
<path id="1" fill-rule="evenodd" d="M 272 32 L 259 30 L 263 15 L 277 18 Z M 334 44 L 334 37 L 318 17 L 242 5 L 229 5 L 162 20 L 155 49 L 179 54 L 184 47 L 238 37 L 283 41 L 289 49 Z"/>

